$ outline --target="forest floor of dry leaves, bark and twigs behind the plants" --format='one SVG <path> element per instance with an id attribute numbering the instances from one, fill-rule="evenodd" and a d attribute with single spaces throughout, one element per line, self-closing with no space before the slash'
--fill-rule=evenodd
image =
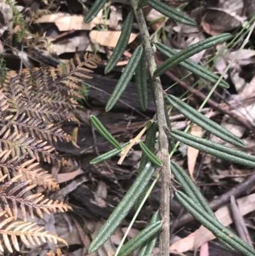
<path id="1" fill-rule="evenodd" d="M 178 24 L 149 7 L 144 8 L 151 40 L 163 42 L 177 51 L 209 36 L 225 32 L 231 33 L 235 38 L 255 14 L 255 1 L 252 0 L 166 2 L 182 10 L 198 24 L 193 27 Z M 22 68 L 40 66 L 41 63 L 57 66 L 74 57 L 76 53 L 82 56 L 84 52 L 93 52 L 102 59 L 92 75 L 93 79 L 84 80 L 82 84 L 85 98 L 81 103 L 84 109 L 76 109 L 72 112 L 80 120 L 77 144 L 57 142 L 54 145 L 68 160 L 68 165 L 62 168 L 55 165 L 46 167 L 61 184 L 61 191 L 58 193 L 66 195 L 66 202 L 73 207 L 72 212 L 64 215 L 55 213 L 44 220 L 49 232 L 56 232 L 68 242 L 69 248 L 62 248 L 66 256 L 105 256 L 107 252 L 114 252 L 135 213 L 135 209 L 129 213 L 103 248 L 88 254 L 87 250 L 92 238 L 135 180 L 142 155 L 140 147 L 136 145 L 122 165 L 117 165 L 119 156 L 98 165 L 91 165 L 90 161 L 93 158 L 109 151 L 112 147 L 94 132 L 89 116 L 91 114 L 97 116 L 119 142 L 125 143 L 135 137 L 145 122 L 155 114 L 151 95 L 147 110 L 143 112 L 140 109 L 134 80 L 131 80 L 120 98 L 121 101 L 113 110 L 105 112 L 106 102 L 122 70 L 132 56 L 133 50 L 140 43 L 140 34 L 134 22 L 128 49 L 117 67 L 105 75 L 105 65 L 117 43 L 123 20 L 126 19 L 131 6 L 109 1 L 91 23 L 85 24 L 84 17 L 92 3 L 94 1 L 90 0 L 24 0 L 18 1 L 17 5 L 13 2 L 0 3 L 2 80 L 8 70 L 18 72 Z M 238 38 L 206 67 L 221 75 L 246 36 L 247 30 L 244 29 Z M 191 59 L 196 63 L 204 64 L 229 42 L 203 50 Z M 156 52 L 155 56 L 157 64 L 161 64 L 166 59 L 159 52 Z M 167 93 L 185 98 L 189 105 L 198 109 L 213 85 L 199 80 L 195 75 L 190 75 L 179 82 L 179 79 L 188 73 L 180 66 L 171 68 L 161 77 L 163 89 Z M 255 30 L 224 79 L 230 84 L 230 89 L 216 89 L 201 112 L 242 138 L 246 144 L 242 150 L 255 154 Z M 177 110 L 169 106 L 169 114 L 175 130 L 186 128 L 187 119 Z M 70 134 L 77 128 L 75 123 L 63 123 L 61 126 Z M 195 125 L 192 126 L 191 134 L 226 145 L 226 142 L 205 133 Z M 237 200 L 240 218 L 244 216 L 250 239 L 254 243 L 254 170 L 219 160 L 183 144 L 173 154 L 173 159 L 193 178 L 220 222 L 234 232 L 237 229 L 231 216 L 236 211 L 234 202 Z M 161 181 L 154 187 L 130 230 L 128 239 L 146 227 L 152 214 L 159 209 L 160 183 Z M 179 184 L 175 181 L 173 186 L 179 188 Z M 231 195 L 235 196 L 235 200 L 230 202 Z M 224 248 L 208 230 L 202 229 L 198 222 L 187 215 L 175 197 L 171 199 L 170 211 L 170 255 L 189 256 L 193 255 L 194 251 L 198 251 L 201 256 L 241 255 Z M 25 249 L 23 255 L 44 256 L 48 248 L 52 248 L 52 245 L 31 246 L 29 250 Z"/>

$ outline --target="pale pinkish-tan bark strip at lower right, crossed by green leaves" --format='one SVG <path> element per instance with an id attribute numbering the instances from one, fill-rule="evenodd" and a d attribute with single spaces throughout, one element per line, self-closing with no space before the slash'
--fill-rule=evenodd
<path id="1" fill-rule="evenodd" d="M 244 216 L 247 213 L 251 213 L 255 209 L 255 193 L 242 197 L 237 200 L 240 213 Z M 230 225 L 233 220 L 228 206 L 221 207 L 215 212 L 215 215 L 219 222 L 224 226 Z M 170 246 L 170 250 L 176 250 L 177 252 L 187 252 L 193 250 L 193 248 L 200 248 L 204 243 L 214 239 L 215 236 L 205 227 L 201 226 L 195 232 L 189 234 L 189 236 L 180 239 L 176 243 Z"/>

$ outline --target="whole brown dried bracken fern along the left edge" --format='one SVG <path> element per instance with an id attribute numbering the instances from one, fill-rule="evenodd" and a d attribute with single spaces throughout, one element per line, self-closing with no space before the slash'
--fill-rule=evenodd
<path id="1" fill-rule="evenodd" d="M 79 107 L 75 98 L 82 89 L 78 83 L 92 79 L 91 73 L 100 59 L 92 54 L 78 56 L 57 68 L 41 66 L 20 73 L 10 71 L 0 86 L 0 250 L 20 250 L 24 245 L 66 241 L 43 231 L 27 216 L 43 218 L 56 211 L 68 211 L 68 204 L 34 193 L 36 186 L 59 190 L 51 174 L 40 162 L 64 165 L 52 142 L 70 142 L 73 137 L 56 126 L 56 122 L 75 121 L 69 110 Z M 17 220 L 21 213 L 22 221 Z M 15 221 L 17 220 L 17 221 Z M 67 244 L 66 244 L 67 245 Z"/>

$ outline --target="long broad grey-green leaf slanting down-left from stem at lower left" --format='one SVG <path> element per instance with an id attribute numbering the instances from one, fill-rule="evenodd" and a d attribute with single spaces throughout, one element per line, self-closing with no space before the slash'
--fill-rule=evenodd
<path id="1" fill-rule="evenodd" d="M 117 229 L 122 220 L 124 220 L 124 218 L 128 215 L 129 211 L 134 206 L 140 193 L 143 192 L 144 188 L 149 183 L 155 169 L 155 165 L 151 165 L 150 162 L 147 163 L 140 175 L 136 178 L 135 183 L 133 183 L 131 188 L 129 188 L 126 195 L 114 209 L 112 215 L 110 215 L 103 227 L 101 227 L 99 230 L 98 234 L 89 246 L 89 253 L 98 250 L 99 247 L 103 245 L 105 241 L 113 234 L 115 229 Z"/>

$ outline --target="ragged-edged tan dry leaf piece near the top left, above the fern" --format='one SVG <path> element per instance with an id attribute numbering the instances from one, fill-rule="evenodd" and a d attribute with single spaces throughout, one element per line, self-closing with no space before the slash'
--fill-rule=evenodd
<path id="1" fill-rule="evenodd" d="M 84 15 L 68 15 L 67 13 L 52 13 L 43 15 L 36 20 L 36 23 L 55 23 L 59 31 L 89 30 L 102 23 L 101 15 L 98 15 L 92 22 L 84 23 Z M 108 22 L 108 21 L 106 21 Z"/>

